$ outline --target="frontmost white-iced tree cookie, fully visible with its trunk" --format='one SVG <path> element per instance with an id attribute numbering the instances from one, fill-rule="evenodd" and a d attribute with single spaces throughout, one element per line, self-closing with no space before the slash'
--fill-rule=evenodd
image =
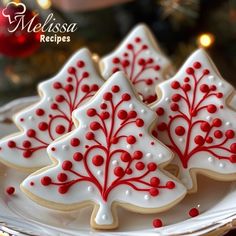
<path id="1" fill-rule="evenodd" d="M 76 129 L 48 147 L 54 166 L 29 176 L 22 190 L 58 210 L 94 204 L 91 225 L 99 229 L 118 226 L 117 205 L 153 213 L 179 202 L 185 187 L 161 171 L 172 153 L 149 134 L 155 112 L 132 89 L 124 73 L 114 74 L 74 111 Z"/>

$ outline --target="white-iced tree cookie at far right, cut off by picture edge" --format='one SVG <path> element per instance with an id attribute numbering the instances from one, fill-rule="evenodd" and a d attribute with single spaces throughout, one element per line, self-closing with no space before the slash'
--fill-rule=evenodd
<path id="1" fill-rule="evenodd" d="M 189 192 L 197 190 L 197 173 L 235 180 L 235 90 L 207 54 L 197 50 L 159 88 L 160 100 L 152 106 L 159 118 L 152 133 L 175 152 L 172 164 Z"/>

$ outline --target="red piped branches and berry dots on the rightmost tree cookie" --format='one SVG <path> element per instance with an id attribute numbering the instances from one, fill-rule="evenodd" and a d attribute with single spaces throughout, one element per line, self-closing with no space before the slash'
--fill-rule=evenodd
<path id="1" fill-rule="evenodd" d="M 197 120 L 195 117 L 201 111 L 207 111 L 209 114 L 215 114 L 218 109 L 223 108 L 222 106 L 217 107 L 215 104 L 207 104 L 210 97 L 215 97 L 216 99 L 223 98 L 223 94 L 217 92 L 217 87 L 215 85 L 207 85 L 201 83 L 202 79 L 209 75 L 209 70 L 202 70 L 202 75 L 197 78 L 195 72 L 197 70 L 202 70 L 202 65 L 200 62 L 195 62 L 193 67 L 186 69 L 187 76 L 184 79 L 184 83 L 180 84 L 179 81 L 174 81 L 171 83 L 171 89 L 176 91 L 172 95 L 172 102 L 170 103 L 170 110 L 175 113 L 175 115 L 170 116 L 168 123 L 160 123 L 157 125 L 156 130 L 153 131 L 153 135 L 157 137 L 159 132 L 166 131 L 170 140 L 169 147 L 174 150 L 179 156 L 184 168 L 188 167 L 188 161 L 190 158 L 199 152 L 208 152 L 217 159 L 229 160 L 232 163 L 236 162 L 236 143 L 231 145 L 228 143 L 229 140 L 235 137 L 235 131 L 228 129 L 224 133 L 221 131 L 222 120 L 217 116 L 211 121 Z M 193 84 L 193 86 L 191 86 Z M 192 93 L 192 96 L 190 96 Z M 197 101 L 197 94 L 202 94 L 202 97 Z M 179 105 L 179 102 L 185 103 L 188 108 L 188 112 L 182 111 L 183 105 Z M 207 105 L 206 105 L 207 104 Z M 163 108 L 157 109 L 157 114 L 162 116 L 164 114 Z M 187 123 L 188 128 L 184 126 L 177 126 L 175 128 L 175 133 L 173 136 L 173 124 L 183 121 Z M 204 135 L 194 135 L 193 129 L 200 129 Z M 181 151 L 178 144 L 175 142 L 175 138 L 185 136 L 186 144 L 184 151 Z M 212 143 L 217 142 L 217 144 L 212 145 Z M 194 142 L 195 147 L 191 149 L 190 142 Z M 224 154 L 219 155 L 219 150 L 223 150 Z"/>

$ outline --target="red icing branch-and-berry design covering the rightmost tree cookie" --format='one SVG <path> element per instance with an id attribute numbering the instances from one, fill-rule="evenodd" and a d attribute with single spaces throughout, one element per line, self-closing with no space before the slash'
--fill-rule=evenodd
<path id="1" fill-rule="evenodd" d="M 217 113 L 221 105 L 209 101 L 212 97 L 216 100 L 225 99 L 223 93 L 218 91 L 215 84 L 206 84 L 210 70 L 204 69 L 201 62 L 195 61 L 186 68 L 185 73 L 185 78 L 179 78 L 178 81 L 169 84 L 171 102 L 167 107 L 157 104 L 155 109 L 160 119 L 152 134 L 159 137 L 177 154 L 184 168 L 188 168 L 189 160 L 200 152 L 235 163 L 235 130 L 224 131 L 223 121 Z M 210 115 L 212 120 L 200 118 L 204 112 Z M 161 119 L 165 114 L 168 115 L 168 119 Z M 164 135 L 167 138 L 162 140 Z M 179 145 L 180 137 L 186 140 L 181 145 Z"/>

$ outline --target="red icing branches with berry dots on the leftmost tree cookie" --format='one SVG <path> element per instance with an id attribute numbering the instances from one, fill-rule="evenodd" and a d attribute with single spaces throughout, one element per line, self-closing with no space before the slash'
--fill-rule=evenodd
<path id="1" fill-rule="evenodd" d="M 16 144 L 13 140 L 9 141 L 9 148 L 21 150 L 23 157 L 29 158 L 34 152 L 47 148 L 58 136 L 68 133 L 73 129 L 72 112 L 85 100 L 91 98 L 99 89 L 97 84 L 88 85 L 84 83 L 90 76 L 85 70 L 85 66 L 85 62 L 79 60 L 77 67 L 68 68 L 68 77 L 65 84 L 61 82 L 54 82 L 52 84 L 52 89 L 58 91 L 58 95 L 53 98 L 54 103 L 51 104 L 49 109 L 53 111 L 53 114 L 56 114 L 52 115 L 50 111 L 48 114 L 48 111 L 43 108 L 36 109 L 35 115 L 42 118 L 41 121 L 36 124 L 37 128 L 27 131 L 27 139 L 22 145 Z M 67 106 L 65 107 L 64 104 L 67 104 Z M 59 124 L 59 120 L 64 120 L 66 124 Z M 43 134 L 43 136 L 46 134 L 47 138 L 41 138 L 41 134 Z"/>

